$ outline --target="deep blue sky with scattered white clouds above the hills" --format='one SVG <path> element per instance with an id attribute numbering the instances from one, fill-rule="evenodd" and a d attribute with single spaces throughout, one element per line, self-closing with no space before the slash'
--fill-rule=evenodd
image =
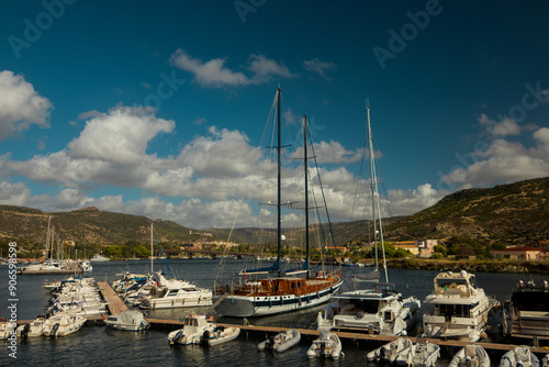
<path id="1" fill-rule="evenodd" d="M 392 215 L 549 176 L 544 1 L 1 7 L 3 204 L 198 229 L 231 226 L 240 211 L 236 225 L 255 225 L 256 205 L 239 198 L 246 187 L 260 200 L 278 85 L 287 140 L 303 114 L 312 125 L 335 220 L 357 219 L 367 98 Z"/>

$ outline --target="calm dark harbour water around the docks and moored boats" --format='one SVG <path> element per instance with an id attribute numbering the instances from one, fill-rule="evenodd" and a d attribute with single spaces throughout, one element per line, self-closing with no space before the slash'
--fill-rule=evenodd
<path id="1" fill-rule="evenodd" d="M 219 271 L 220 262 L 210 259 L 175 259 L 169 260 L 169 266 L 175 276 L 193 281 L 201 287 L 212 288 L 213 278 Z M 224 268 L 236 270 L 242 267 L 239 260 L 226 263 Z M 133 273 L 147 273 L 150 262 L 128 260 L 94 263 L 93 273 L 90 275 L 98 281 L 112 282 L 119 277 L 116 274 L 126 270 Z M 155 262 L 155 270 L 164 269 L 164 265 Z M 346 267 L 346 279 L 341 291 L 350 290 L 350 277 L 354 273 L 363 273 L 368 268 Z M 433 289 L 433 279 L 438 271 L 426 270 L 396 270 L 390 269 L 390 281 L 396 283 L 403 296 L 414 294 L 421 300 Z M 486 293 L 495 296 L 503 301 L 518 279 L 539 281 L 547 278 L 540 275 L 515 274 L 488 274 L 478 273 L 477 280 Z M 18 319 L 31 320 L 44 313 L 44 304 L 48 292 L 41 288 L 44 279 L 64 279 L 65 276 L 19 276 L 18 277 Z M 8 316 L 8 267 L 0 267 L 0 316 Z M 410 291 L 406 288 L 410 289 Z M 283 326 L 309 329 L 316 320 L 317 312 L 324 307 L 288 313 L 270 318 L 251 319 L 254 325 Z M 197 310 L 201 312 L 202 310 Z M 158 310 L 149 313 L 152 318 L 181 320 L 190 309 Z M 221 319 L 224 323 L 240 323 L 239 319 Z M 257 344 L 265 336 L 246 335 L 245 333 L 231 343 L 214 347 L 177 346 L 170 347 L 167 342 L 168 331 L 150 330 L 145 333 L 130 333 L 110 330 L 103 326 L 82 327 L 79 332 L 57 340 L 36 338 L 18 341 L 18 359 L 10 358 L 8 342 L 0 342 L 0 365 L 21 366 L 359 366 L 366 365 L 366 354 L 378 347 L 378 344 L 344 343 L 345 357 L 340 360 L 307 359 L 306 349 L 310 342 L 302 337 L 302 343 L 281 355 L 258 352 Z M 497 340 L 496 335 L 490 336 Z M 494 356 L 493 362 L 498 356 Z M 498 360 L 498 359 L 497 359 Z M 441 360 L 441 366 L 448 364 L 448 356 Z M 497 365 L 493 363 L 493 365 Z"/>

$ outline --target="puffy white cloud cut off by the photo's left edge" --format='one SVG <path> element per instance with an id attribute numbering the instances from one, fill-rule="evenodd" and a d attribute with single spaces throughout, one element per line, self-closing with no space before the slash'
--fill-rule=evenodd
<path id="1" fill-rule="evenodd" d="M 32 124 L 49 127 L 52 103 L 23 76 L 0 71 L 0 142 L 29 130 Z"/>

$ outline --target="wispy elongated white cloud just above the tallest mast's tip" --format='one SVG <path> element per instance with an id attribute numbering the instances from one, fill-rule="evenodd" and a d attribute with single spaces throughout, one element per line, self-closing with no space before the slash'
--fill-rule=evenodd
<path id="1" fill-rule="evenodd" d="M 177 49 L 170 58 L 172 66 L 193 74 L 197 82 L 205 87 L 261 85 L 274 77 L 293 77 L 284 64 L 277 63 L 264 55 L 253 54 L 249 57 L 248 65 L 242 67 L 248 74 L 229 69 L 225 65 L 226 62 L 225 58 L 203 62 L 192 57 L 183 49 Z"/>

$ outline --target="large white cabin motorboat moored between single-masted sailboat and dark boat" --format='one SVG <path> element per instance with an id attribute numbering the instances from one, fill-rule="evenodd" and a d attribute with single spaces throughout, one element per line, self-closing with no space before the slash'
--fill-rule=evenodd
<path id="1" fill-rule="evenodd" d="M 474 275 L 461 270 L 438 274 L 425 303 L 434 305 L 423 316 L 425 337 L 477 342 L 497 301 L 477 286 Z"/>

